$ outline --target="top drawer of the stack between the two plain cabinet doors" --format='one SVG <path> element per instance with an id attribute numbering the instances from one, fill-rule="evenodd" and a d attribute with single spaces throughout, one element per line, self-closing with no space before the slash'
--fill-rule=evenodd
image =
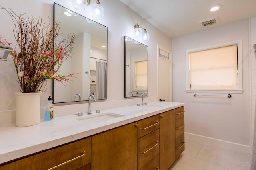
<path id="1" fill-rule="evenodd" d="M 159 115 L 138 121 L 138 138 L 159 129 Z"/>

